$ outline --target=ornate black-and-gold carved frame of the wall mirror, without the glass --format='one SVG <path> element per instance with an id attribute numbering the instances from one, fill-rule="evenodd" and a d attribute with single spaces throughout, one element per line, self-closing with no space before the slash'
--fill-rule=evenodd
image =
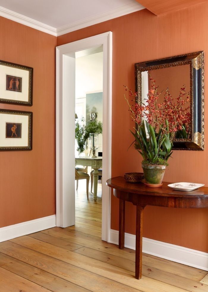
<path id="1" fill-rule="evenodd" d="M 173 150 L 204 150 L 204 51 L 135 63 L 135 92 L 141 103 L 141 72 L 190 64 L 191 138 L 174 139 Z"/>

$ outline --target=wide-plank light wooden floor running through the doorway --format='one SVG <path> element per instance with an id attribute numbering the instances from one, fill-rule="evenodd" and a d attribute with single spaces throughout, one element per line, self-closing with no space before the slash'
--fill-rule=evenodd
<path id="1" fill-rule="evenodd" d="M 206 271 L 143 254 L 134 278 L 135 251 L 101 240 L 101 186 L 95 203 L 85 185 L 76 193 L 76 224 L 0 243 L 0 292 L 208 291 Z"/>

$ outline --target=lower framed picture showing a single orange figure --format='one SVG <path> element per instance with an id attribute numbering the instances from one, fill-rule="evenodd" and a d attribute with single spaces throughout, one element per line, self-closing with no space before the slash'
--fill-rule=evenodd
<path id="1" fill-rule="evenodd" d="M 32 113 L 0 109 L 0 150 L 32 150 Z"/>

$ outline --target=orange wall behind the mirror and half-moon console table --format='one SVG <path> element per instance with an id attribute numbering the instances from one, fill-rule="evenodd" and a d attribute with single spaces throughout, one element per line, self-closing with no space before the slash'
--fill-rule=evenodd
<path id="1" fill-rule="evenodd" d="M 103 32 L 113 32 L 113 176 L 124 175 L 130 171 L 141 171 L 141 156 L 133 147 L 127 152 L 133 141 L 129 132 L 133 122 L 123 98 L 123 84 L 134 88 L 134 63 L 204 50 L 206 76 L 207 15 L 208 3 L 161 16 L 155 16 L 148 10 L 141 10 L 57 38 L 57 45 L 62 45 Z M 205 100 L 207 87 L 205 79 Z M 205 121 L 207 116 L 208 105 L 205 102 Z M 205 137 L 208 137 L 206 126 Z M 174 151 L 164 180 L 193 181 L 204 183 L 208 187 L 206 141 L 204 151 Z M 117 230 L 118 204 L 118 199 L 112 196 L 111 228 Z M 144 237 L 208 251 L 208 209 L 168 209 L 147 206 L 144 217 Z M 135 207 L 130 203 L 126 207 L 125 227 L 126 232 L 135 234 Z"/>

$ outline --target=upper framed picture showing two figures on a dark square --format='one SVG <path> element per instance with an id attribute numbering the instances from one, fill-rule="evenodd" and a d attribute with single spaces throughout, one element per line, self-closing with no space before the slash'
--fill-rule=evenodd
<path id="1" fill-rule="evenodd" d="M 0 60 L 0 102 L 32 105 L 33 68 Z"/>

